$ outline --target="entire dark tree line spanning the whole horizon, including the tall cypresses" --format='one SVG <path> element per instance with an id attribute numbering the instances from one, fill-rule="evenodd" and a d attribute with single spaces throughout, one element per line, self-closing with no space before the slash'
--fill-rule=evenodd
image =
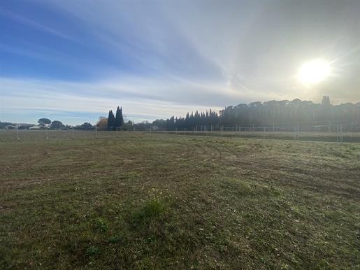
<path id="1" fill-rule="evenodd" d="M 100 116 L 99 121 L 96 122 L 96 128 L 100 130 L 115 130 L 119 127 L 122 129 L 132 129 L 138 127 L 141 129 L 149 129 L 151 126 L 157 126 L 160 129 L 193 129 L 196 126 L 221 126 L 221 125 L 273 125 L 280 123 L 295 123 L 295 122 L 336 122 L 352 121 L 360 123 L 360 102 L 352 104 L 347 102 L 345 104 L 333 105 L 330 102 L 329 96 L 323 96 L 320 104 L 315 104 L 312 101 L 301 101 L 294 99 L 292 101 L 260 101 L 251 102 L 250 104 L 238 104 L 236 106 L 227 106 L 218 113 L 211 109 L 205 112 L 196 111 L 195 113 L 187 112 L 185 118 L 174 117 L 164 119 L 157 119 L 152 123 L 143 121 L 138 124 L 133 122 L 124 122 L 122 114 L 122 107 L 117 106 L 116 113 L 110 110 L 108 117 Z M 6 128 L 14 125 L 9 122 L 0 122 L 0 128 Z M 38 120 L 40 128 L 52 129 L 69 129 L 73 128 L 68 125 L 63 125 L 62 122 L 55 120 L 51 121 L 48 118 L 41 118 Z M 24 125 L 20 128 L 27 129 L 31 125 Z M 15 128 L 15 127 L 13 127 Z M 78 125 L 75 129 L 94 129 L 95 126 L 89 122 Z"/>

